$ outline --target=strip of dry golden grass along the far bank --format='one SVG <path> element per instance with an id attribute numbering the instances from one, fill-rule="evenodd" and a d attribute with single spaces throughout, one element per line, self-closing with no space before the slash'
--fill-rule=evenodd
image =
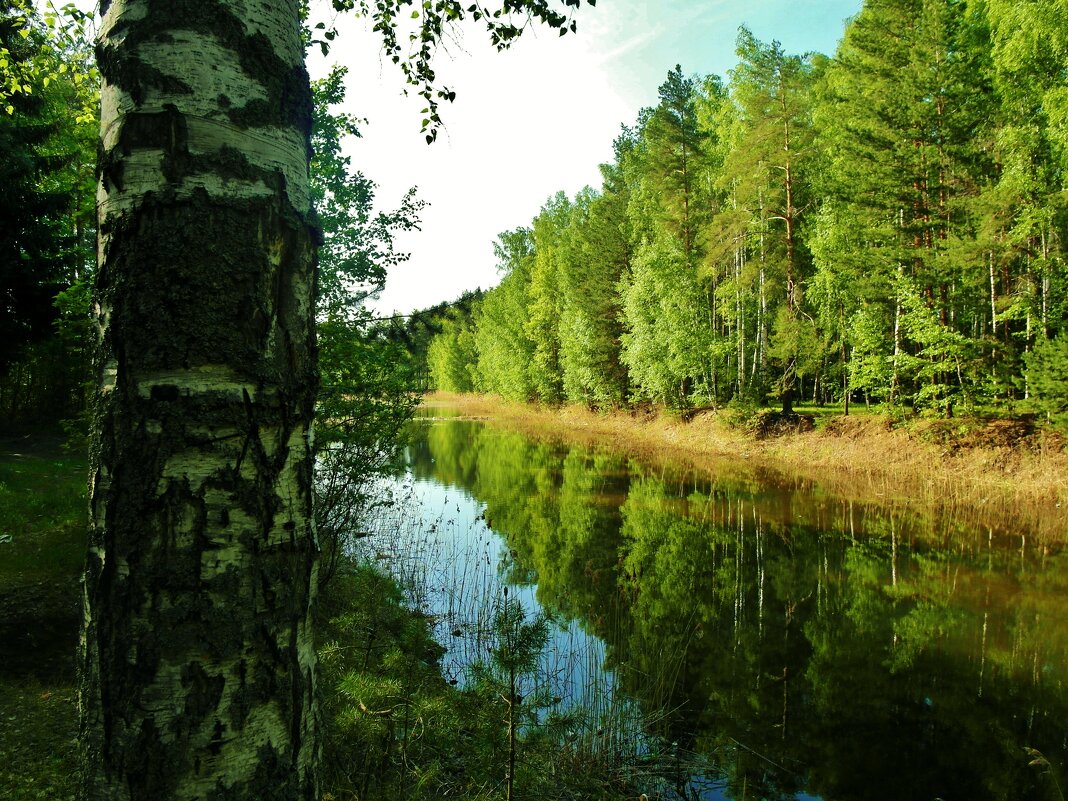
<path id="1" fill-rule="evenodd" d="M 653 465 L 813 485 L 834 497 L 953 515 L 977 528 L 1068 539 L 1068 441 L 1027 421 L 802 409 L 815 412 L 814 430 L 758 438 L 729 412 L 684 421 L 649 410 L 600 413 L 447 393 L 428 395 L 423 405 L 431 413 L 459 411 Z"/>

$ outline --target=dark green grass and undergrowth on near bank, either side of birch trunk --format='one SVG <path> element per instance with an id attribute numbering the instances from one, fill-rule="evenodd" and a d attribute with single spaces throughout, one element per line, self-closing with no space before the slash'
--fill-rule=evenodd
<path id="1" fill-rule="evenodd" d="M 63 455 L 58 442 L 0 442 L 0 799 L 77 795 L 84 476 L 84 459 Z M 446 680 L 434 621 L 413 609 L 408 590 L 359 560 L 344 561 L 320 587 L 321 799 L 503 798 L 500 669 L 464 687 Z M 530 711 L 517 738 L 521 797 L 637 796 L 618 765 L 541 723 Z"/>

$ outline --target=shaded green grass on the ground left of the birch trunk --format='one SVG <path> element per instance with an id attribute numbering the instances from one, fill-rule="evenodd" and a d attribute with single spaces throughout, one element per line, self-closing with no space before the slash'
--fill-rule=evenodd
<path id="1" fill-rule="evenodd" d="M 0 453 L 0 798 L 67 801 L 85 460 L 25 451 Z"/>

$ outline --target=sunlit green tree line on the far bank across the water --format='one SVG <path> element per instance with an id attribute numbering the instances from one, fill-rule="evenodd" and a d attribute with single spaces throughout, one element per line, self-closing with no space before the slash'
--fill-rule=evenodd
<path id="1" fill-rule="evenodd" d="M 1068 3 L 868 0 L 834 58 L 737 53 L 671 70 L 599 190 L 500 235 L 435 386 L 1068 420 Z"/>

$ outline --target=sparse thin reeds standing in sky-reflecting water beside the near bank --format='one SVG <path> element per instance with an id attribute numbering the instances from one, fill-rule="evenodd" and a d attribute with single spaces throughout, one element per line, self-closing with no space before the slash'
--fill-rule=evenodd
<path id="1" fill-rule="evenodd" d="M 674 710 L 643 710 L 629 698 L 617 672 L 608 668 L 603 641 L 578 622 L 552 618 L 533 584 L 509 584 L 512 554 L 476 501 L 462 490 L 410 477 L 383 482 L 378 492 L 393 502 L 378 505 L 365 521 L 367 536 L 351 555 L 384 568 L 399 583 L 410 609 L 441 643 L 441 672 L 450 685 L 477 694 L 480 676 L 500 643 L 494 617 L 507 598 L 518 598 L 531 618 L 549 616 L 551 633 L 524 689 L 537 709 L 521 729 L 528 778 L 539 771 L 543 780 L 553 780 L 548 787 L 538 784 L 538 798 L 634 798 L 643 791 L 650 798 L 690 798 L 722 786 L 717 755 L 687 751 L 656 734 Z M 654 697 L 666 698 L 671 680 L 665 671 L 642 682 Z M 486 797 L 503 791 L 501 785 L 487 786 Z"/>

